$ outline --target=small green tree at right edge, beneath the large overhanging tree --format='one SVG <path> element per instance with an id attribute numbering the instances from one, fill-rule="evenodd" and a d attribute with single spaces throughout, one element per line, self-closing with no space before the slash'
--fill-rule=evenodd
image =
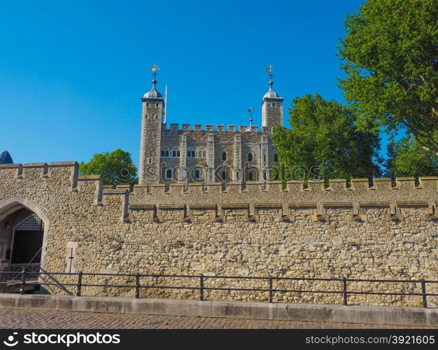
<path id="1" fill-rule="evenodd" d="M 388 144 L 387 176 L 437 176 L 438 159 L 425 151 L 412 135 Z"/>

